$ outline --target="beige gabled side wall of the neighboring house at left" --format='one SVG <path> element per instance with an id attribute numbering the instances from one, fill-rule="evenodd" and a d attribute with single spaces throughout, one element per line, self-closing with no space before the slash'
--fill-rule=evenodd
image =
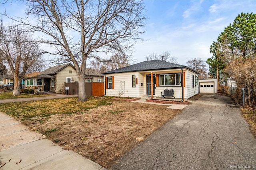
<path id="1" fill-rule="evenodd" d="M 69 73 L 69 71 L 72 71 L 72 73 Z M 64 82 L 66 82 L 67 77 L 71 78 L 71 82 L 78 81 L 76 70 L 72 66 L 67 66 L 56 74 L 55 85 L 57 93 L 61 93 L 63 90 L 65 90 Z"/>

